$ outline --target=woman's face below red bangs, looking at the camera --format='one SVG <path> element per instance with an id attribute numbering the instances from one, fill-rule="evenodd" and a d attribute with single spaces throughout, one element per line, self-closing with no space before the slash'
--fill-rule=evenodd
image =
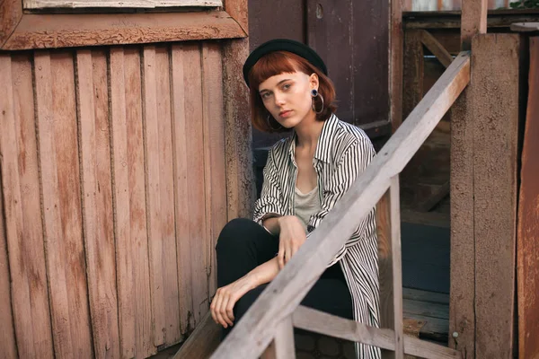
<path id="1" fill-rule="evenodd" d="M 318 90 L 318 75 L 302 72 L 271 76 L 261 83 L 262 102 L 282 127 L 292 128 L 305 118 L 315 119 L 311 90 Z"/>

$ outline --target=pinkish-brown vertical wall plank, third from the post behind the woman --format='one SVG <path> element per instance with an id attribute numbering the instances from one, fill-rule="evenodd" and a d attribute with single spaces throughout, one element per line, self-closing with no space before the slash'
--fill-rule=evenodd
<path id="1" fill-rule="evenodd" d="M 164 55 L 164 59 L 162 59 Z M 163 61 L 164 60 L 164 61 Z M 163 79 L 163 74 L 166 78 Z M 172 187 L 172 137 L 167 53 L 144 48 L 146 208 L 150 243 L 150 284 L 154 345 L 178 337 L 178 279 Z M 164 93 L 163 91 L 164 86 Z M 167 106 L 168 105 L 168 106 Z M 168 135 L 168 136 L 167 136 Z M 172 258 L 171 258 L 172 256 Z M 168 263 L 167 263 L 168 262 Z M 168 307 L 170 305 L 170 307 Z M 170 331 L 170 341 L 167 332 Z"/>

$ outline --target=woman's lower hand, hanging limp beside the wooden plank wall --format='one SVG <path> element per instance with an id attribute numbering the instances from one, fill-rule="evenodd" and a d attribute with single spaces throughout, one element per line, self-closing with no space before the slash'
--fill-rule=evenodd
<path id="1" fill-rule="evenodd" d="M 251 282 L 249 276 L 243 276 L 230 285 L 217 289 L 209 306 L 211 317 L 217 324 L 221 324 L 225 328 L 234 325 L 234 305 L 243 297 L 243 294 L 256 287 Z"/>

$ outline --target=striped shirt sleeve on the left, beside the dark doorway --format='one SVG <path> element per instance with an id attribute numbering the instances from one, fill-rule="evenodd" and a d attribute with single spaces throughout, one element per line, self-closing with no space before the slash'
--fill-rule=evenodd
<path id="1" fill-rule="evenodd" d="M 273 158 L 273 150 L 268 153 L 268 161 L 264 166 L 261 197 L 254 204 L 253 221 L 262 221 L 275 216 L 285 215 L 283 193 L 278 184 L 278 170 Z"/>

